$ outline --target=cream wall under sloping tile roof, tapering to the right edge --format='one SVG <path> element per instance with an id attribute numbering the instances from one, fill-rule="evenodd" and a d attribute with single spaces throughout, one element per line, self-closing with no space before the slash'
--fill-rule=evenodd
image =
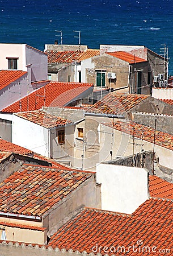
<path id="1" fill-rule="evenodd" d="M 104 162 L 111 160 L 111 154 L 109 154 L 112 148 L 112 159 L 116 159 L 117 156 L 129 156 L 133 155 L 133 137 L 132 135 L 121 133 L 121 131 L 112 129 L 111 127 L 100 125 L 100 161 Z M 113 138 L 111 138 L 113 133 Z M 111 142 L 113 141 L 113 145 L 111 147 Z M 141 145 L 143 143 L 143 146 Z M 145 137 L 143 141 L 140 138 L 134 139 L 134 154 L 141 152 L 141 146 L 144 151 L 153 151 L 153 143 L 145 141 Z M 165 166 L 167 168 L 171 168 L 173 166 L 173 151 L 169 150 L 166 147 L 161 147 L 155 144 L 155 155 L 159 157 L 159 164 Z M 106 158 L 104 158 L 106 156 Z"/>

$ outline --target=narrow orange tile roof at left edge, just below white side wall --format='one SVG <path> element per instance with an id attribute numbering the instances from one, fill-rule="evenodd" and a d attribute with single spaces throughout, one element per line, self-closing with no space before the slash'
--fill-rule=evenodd
<path id="1" fill-rule="evenodd" d="M 24 148 L 24 147 L 20 147 L 14 143 L 9 142 L 9 141 L 5 141 L 4 139 L 0 139 L 0 150 L 14 152 L 16 154 L 22 154 L 22 155 L 32 155 L 33 154 L 33 151 L 28 150 L 27 148 Z"/>

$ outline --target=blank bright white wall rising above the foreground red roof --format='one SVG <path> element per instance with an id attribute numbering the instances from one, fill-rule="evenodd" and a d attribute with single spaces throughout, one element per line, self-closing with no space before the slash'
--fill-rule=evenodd
<path id="1" fill-rule="evenodd" d="M 99 164 L 96 182 L 101 183 L 102 209 L 132 214 L 149 199 L 145 168 Z"/>

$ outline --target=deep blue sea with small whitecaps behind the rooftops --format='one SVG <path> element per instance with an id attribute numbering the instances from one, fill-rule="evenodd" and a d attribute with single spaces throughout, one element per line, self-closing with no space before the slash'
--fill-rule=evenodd
<path id="1" fill-rule="evenodd" d="M 159 54 L 168 47 L 173 75 L 173 0 L 1 0 L 0 42 L 140 45 Z M 1 57 L 1 56 L 0 56 Z"/>

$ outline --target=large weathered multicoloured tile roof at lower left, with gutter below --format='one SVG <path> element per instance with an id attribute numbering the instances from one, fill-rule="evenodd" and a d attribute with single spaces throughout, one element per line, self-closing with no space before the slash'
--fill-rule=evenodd
<path id="1" fill-rule="evenodd" d="M 0 214 L 43 216 L 92 174 L 41 167 L 22 167 L 0 183 Z"/>

